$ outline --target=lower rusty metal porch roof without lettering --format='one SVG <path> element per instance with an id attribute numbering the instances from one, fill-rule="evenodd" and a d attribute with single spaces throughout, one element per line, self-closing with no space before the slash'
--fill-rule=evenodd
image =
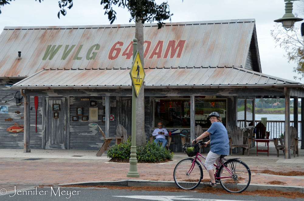
<path id="1" fill-rule="evenodd" d="M 41 70 L 13 85 L 13 88 L 130 88 L 130 69 Z M 154 68 L 145 69 L 145 88 L 161 86 L 236 87 L 303 85 L 238 67 Z"/>

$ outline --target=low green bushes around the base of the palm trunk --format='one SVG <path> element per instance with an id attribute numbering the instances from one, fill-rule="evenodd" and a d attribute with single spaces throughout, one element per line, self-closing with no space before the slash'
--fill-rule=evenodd
<path id="1" fill-rule="evenodd" d="M 113 159 L 126 160 L 130 159 L 131 141 L 127 140 L 120 145 L 115 144 L 107 153 L 107 156 Z M 161 148 L 156 143 L 147 142 L 146 145 L 136 148 L 136 158 L 139 162 L 162 162 L 166 159 L 172 159 L 173 152 Z"/>

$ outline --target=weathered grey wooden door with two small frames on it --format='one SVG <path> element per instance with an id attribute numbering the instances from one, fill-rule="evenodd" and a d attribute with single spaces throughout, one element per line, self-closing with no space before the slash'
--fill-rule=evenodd
<path id="1" fill-rule="evenodd" d="M 56 105 L 53 108 L 53 105 Z M 60 105 L 59 110 L 57 105 Z M 58 113 L 58 116 L 54 113 Z M 66 149 L 67 101 L 65 97 L 46 98 L 45 148 Z M 58 118 L 56 118 L 58 117 Z"/>

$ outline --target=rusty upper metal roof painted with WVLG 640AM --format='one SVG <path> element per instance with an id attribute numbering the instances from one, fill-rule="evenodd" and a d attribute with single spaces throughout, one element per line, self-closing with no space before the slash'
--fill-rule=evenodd
<path id="1" fill-rule="evenodd" d="M 144 67 L 244 67 L 254 25 L 254 19 L 166 23 L 159 30 L 144 24 Z M 0 77 L 27 77 L 42 69 L 130 68 L 127 47 L 134 37 L 134 24 L 5 27 Z"/>

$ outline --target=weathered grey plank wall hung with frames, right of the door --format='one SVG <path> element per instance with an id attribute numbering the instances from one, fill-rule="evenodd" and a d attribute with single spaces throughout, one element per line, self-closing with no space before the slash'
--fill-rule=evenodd
<path id="1" fill-rule="evenodd" d="M 86 97 L 84 97 L 86 98 Z M 102 105 L 102 97 L 88 97 L 90 100 L 82 101 L 81 97 L 70 97 L 70 149 L 91 149 L 98 150 L 104 140 L 98 127 L 89 127 L 90 123 L 97 123 L 100 128 L 105 131 L 105 122 L 102 122 L 104 116 Z M 98 121 L 92 121 L 89 118 L 90 101 L 95 100 L 98 107 Z M 110 136 L 116 135 L 116 97 L 110 97 L 111 114 L 114 115 L 114 121 L 110 121 Z M 88 121 L 81 121 L 81 116 L 78 116 L 78 121 L 72 121 L 76 115 L 76 108 L 83 108 L 83 116 L 88 116 Z M 111 145 L 115 143 L 112 140 Z"/>

